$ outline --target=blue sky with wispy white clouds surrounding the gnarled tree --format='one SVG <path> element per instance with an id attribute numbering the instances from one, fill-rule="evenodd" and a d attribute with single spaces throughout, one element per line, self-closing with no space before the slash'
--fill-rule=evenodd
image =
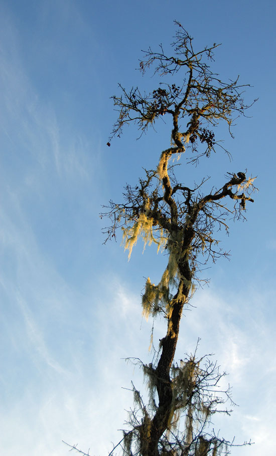
<path id="1" fill-rule="evenodd" d="M 0 1 L 1 453 L 62 456 L 63 439 L 107 454 L 132 405 L 121 387 L 143 383 L 122 358 L 149 359 L 140 293 L 164 260 L 137 246 L 127 262 L 120 242 L 103 246 L 98 213 L 168 147 L 163 128 L 106 142 L 109 97 L 118 82 L 152 88 L 135 71 L 141 49 L 171 43 L 176 19 L 198 46 L 222 43 L 215 71 L 240 74 L 246 100 L 259 97 L 235 140 L 223 132 L 232 162 L 216 156 L 193 172 L 223 180 L 247 168 L 260 190 L 248 221 L 222 235 L 231 261 L 207 271 L 178 356 L 201 337 L 229 372 L 239 407 L 221 434 L 256 442 L 232 454 L 274 454 L 275 10 L 268 0 Z"/>

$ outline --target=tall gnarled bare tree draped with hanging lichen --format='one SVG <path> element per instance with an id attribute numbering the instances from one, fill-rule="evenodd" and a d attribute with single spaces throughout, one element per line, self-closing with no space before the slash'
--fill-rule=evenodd
<path id="1" fill-rule="evenodd" d="M 189 166 L 223 149 L 214 127 L 224 121 L 232 135 L 233 119 L 249 106 L 238 79 L 222 82 L 212 73 L 209 62 L 217 45 L 196 51 L 187 31 L 177 22 L 176 26 L 173 53 L 166 55 L 162 45 L 159 52 L 149 48 L 140 62 L 143 74 L 153 69 L 160 76 L 158 87 L 142 93 L 120 85 L 120 96 L 112 97 L 118 119 L 107 145 L 121 135 L 125 124 L 135 123 L 143 134 L 162 117 L 171 122 L 172 131 L 171 144 L 162 151 L 157 167 L 145 170 L 137 185 L 127 185 L 124 201 L 110 201 L 101 214 L 111 220 L 104 230 L 106 240 L 115 238 L 120 228 L 129 257 L 142 238 L 145 246 L 156 244 L 168 258 L 159 284 L 148 278 L 142 297 L 145 317 L 164 317 L 167 333 L 159 349 L 153 349 L 152 363 L 133 360 L 148 378 L 149 401 L 146 404 L 133 386 L 135 406 L 128 427 L 110 454 L 121 447 L 128 456 L 215 456 L 229 454 L 234 444 L 219 437 L 211 425 L 215 413 L 231 411 L 225 405 L 230 400 L 231 406 L 229 389 L 223 396 L 218 387 L 225 373 L 209 357 L 197 359 L 196 352 L 179 363 L 174 357 L 181 316 L 200 270 L 209 260 L 227 255 L 219 247 L 217 233 L 228 232 L 227 219 L 244 218 L 247 201 L 253 202 L 254 178 L 243 171 L 227 173 L 224 179 L 216 176 L 220 183 L 206 191 L 206 178 L 193 187 L 180 181 L 173 158 L 185 154 Z"/>

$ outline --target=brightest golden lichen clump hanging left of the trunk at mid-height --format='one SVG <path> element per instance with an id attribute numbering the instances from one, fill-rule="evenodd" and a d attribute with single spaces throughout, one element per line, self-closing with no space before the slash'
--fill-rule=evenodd
<path id="1" fill-rule="evenodd" d="M 154 230 L 154 219 L 149 216 L 150 200 L 147 199 L 142 211 L 137 219 L 133 219 L 133 225 L 122 226 L 124 250 L 128 250 L 128 260 L 130 259 L 133 246 L 136 245 L 139 238 L 144 241 L 144 250 L 147 244 L 157 245 L 157 253 L 163 249 L 167 243 L 167 238 L 163 236 L 163 230 Z M 156 233 L 154 233 L 154 231 Z"/>

